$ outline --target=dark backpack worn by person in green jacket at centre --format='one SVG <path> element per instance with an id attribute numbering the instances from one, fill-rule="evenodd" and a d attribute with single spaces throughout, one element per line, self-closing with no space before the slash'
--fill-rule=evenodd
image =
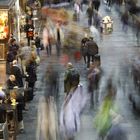
<path id="1" fill-rule="evenodd" d="M 77 86 L 80 81 L 80 74 L 76 69 L 71 69 L 68 73 L 68 80 L 71 86 Z"/>

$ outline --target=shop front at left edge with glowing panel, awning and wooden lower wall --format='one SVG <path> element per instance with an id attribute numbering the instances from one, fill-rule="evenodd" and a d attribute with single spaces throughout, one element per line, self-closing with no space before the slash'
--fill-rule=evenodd
<path id="1" fill-rule="evenodd" d="M 13 16 L 11 9 L 16 0 L 0 0 L 0 86 L 6 80 L 6 53 L 9 35 L 13 31 Z"/>

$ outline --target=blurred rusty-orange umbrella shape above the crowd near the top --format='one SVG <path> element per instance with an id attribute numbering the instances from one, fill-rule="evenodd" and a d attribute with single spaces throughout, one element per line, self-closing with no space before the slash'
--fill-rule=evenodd
<path id="1" fill-rule="evenodd" d="M 43 7 L 42 14 L 50 17 L 54 22 L 59 22 L 64 25 L 67 24 L 69 20 L 69 14 L 64 8 L 54 9 Z"/>

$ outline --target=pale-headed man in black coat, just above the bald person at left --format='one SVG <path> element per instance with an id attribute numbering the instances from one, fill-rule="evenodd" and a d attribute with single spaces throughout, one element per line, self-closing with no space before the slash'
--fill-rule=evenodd
<path id="1" fill-rule="evenodd" d="M 11 67 L 11 74 L 15 75 L 16 81 L 19 87 L 23 87 L 22 73 L 17 64 L 17 60 L 13 61 L 13 65 Z"/>

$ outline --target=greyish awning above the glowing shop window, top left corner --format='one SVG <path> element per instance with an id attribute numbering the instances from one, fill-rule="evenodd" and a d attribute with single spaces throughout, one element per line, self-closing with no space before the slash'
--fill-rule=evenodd
<path id="1" fill-rule="evenodd" d="M 0 9 L 10 9 L 16 0 L 0 0 Z"/>

